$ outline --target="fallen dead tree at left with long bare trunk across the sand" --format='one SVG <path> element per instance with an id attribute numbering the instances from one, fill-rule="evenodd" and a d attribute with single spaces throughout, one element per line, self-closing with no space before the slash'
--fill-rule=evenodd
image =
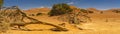
<path id="1" fill-rule="evenodd" d="M 60 31 L 67 31 L 66 28 L 63 28 L 61 26 L 50 24 L 47 22 L 42 22 L 42 21 L 39 21 L 37 19 L 28 17 L 17 6 L 8 7 L 6 9 L 1 10 L 0 17 L 1 17 L 0 22 L 8 23 L 9 24 L 9 25 L 7 25 L 8 27 L 18 26 L 19 30 L 29 30 L 30 31 L 30 29 L 22 29 L 21 27 L 24 27 L 24 26 L 29 25 L 29 24 L 44 24 L 44 25 L 54 26 L 57 29 L 59 29 Z M 24 18 L 31 20 L 31 22 L 25 22 L 23 20 Z M 2 21 L 2 20 L 4 20 L 4 21 Z M 5 26 L 5 25 L 3 25 L 3 26 Z"/>

